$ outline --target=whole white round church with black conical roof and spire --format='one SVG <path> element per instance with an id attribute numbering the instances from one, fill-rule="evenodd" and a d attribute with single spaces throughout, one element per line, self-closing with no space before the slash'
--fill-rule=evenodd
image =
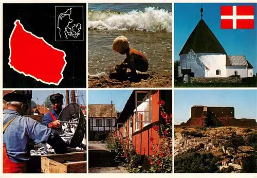
<path id="1" fill-rule="evenodd" d="M 179 53 L 178 75 L 186 74 L 191 77 L 252 77 L 253 66 L 244 55 L 227 55 L 201 18 Z"/>

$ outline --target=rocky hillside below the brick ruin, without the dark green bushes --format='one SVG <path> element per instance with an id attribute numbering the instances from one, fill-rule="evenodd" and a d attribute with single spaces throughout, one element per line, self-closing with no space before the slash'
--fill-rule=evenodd
<path id="1" fill-rule="evenodd" d="M 177 156 L 189 152 L 211 153 L 218 170 L 241 172 L 246 167 L 244 158 L 257 154 L 256 140 L 256 128 L 176 128 L 175 161 Z"/>

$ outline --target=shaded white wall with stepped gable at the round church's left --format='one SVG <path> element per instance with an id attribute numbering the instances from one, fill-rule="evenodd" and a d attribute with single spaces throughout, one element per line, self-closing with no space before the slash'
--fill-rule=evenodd
<path id="1" fill-rule="evenodd" d="M 194 77 L 205 77 L 205 65 L 201 62 L 193 51 L 179 56 L 181 69 L 191 69 Z"/>

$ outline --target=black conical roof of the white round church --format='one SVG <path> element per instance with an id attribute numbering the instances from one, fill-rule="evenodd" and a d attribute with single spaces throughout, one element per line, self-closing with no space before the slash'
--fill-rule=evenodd
<path id="1" fill-rule="evenodd" d="M 211 52 L 227 55 L 221 43 L 219 43 L 203 19 L 198 22 L 190 34 L 179 55 L 187 54 L 190 49 L 193 49 L 194 52 Z"/>

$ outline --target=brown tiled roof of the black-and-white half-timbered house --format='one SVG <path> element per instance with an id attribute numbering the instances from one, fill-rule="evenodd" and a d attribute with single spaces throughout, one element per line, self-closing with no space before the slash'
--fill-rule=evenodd
<path id="1" fill-rule="evenodd" d="M 113 109 L 113 112 L 112 112 Z M 116 118 L 115 104 L 88 104 L 88 117 L 113 117 Z"/>

